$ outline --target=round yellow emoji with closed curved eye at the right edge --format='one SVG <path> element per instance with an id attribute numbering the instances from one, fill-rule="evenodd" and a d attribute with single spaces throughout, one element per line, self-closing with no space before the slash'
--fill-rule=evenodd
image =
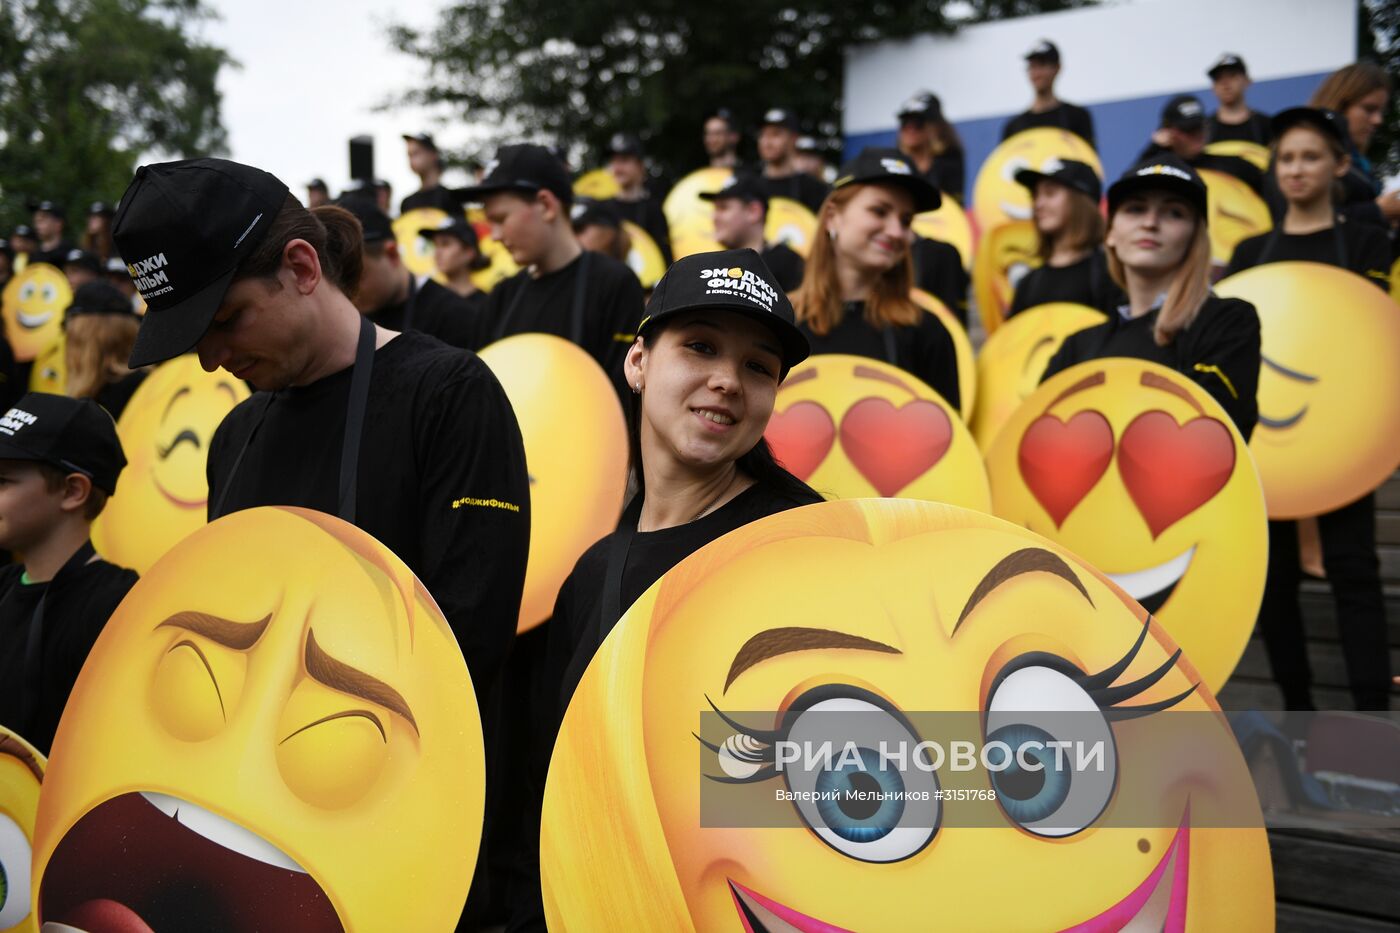
<path id="1" fill-rule="evenodd" d="M 1400 308 L 1345 269 L 1273 262 L 1215 291 L 1259 308 L 1259 426 L 1270 518 L 1333 511 L 1400 465 Z"/>

